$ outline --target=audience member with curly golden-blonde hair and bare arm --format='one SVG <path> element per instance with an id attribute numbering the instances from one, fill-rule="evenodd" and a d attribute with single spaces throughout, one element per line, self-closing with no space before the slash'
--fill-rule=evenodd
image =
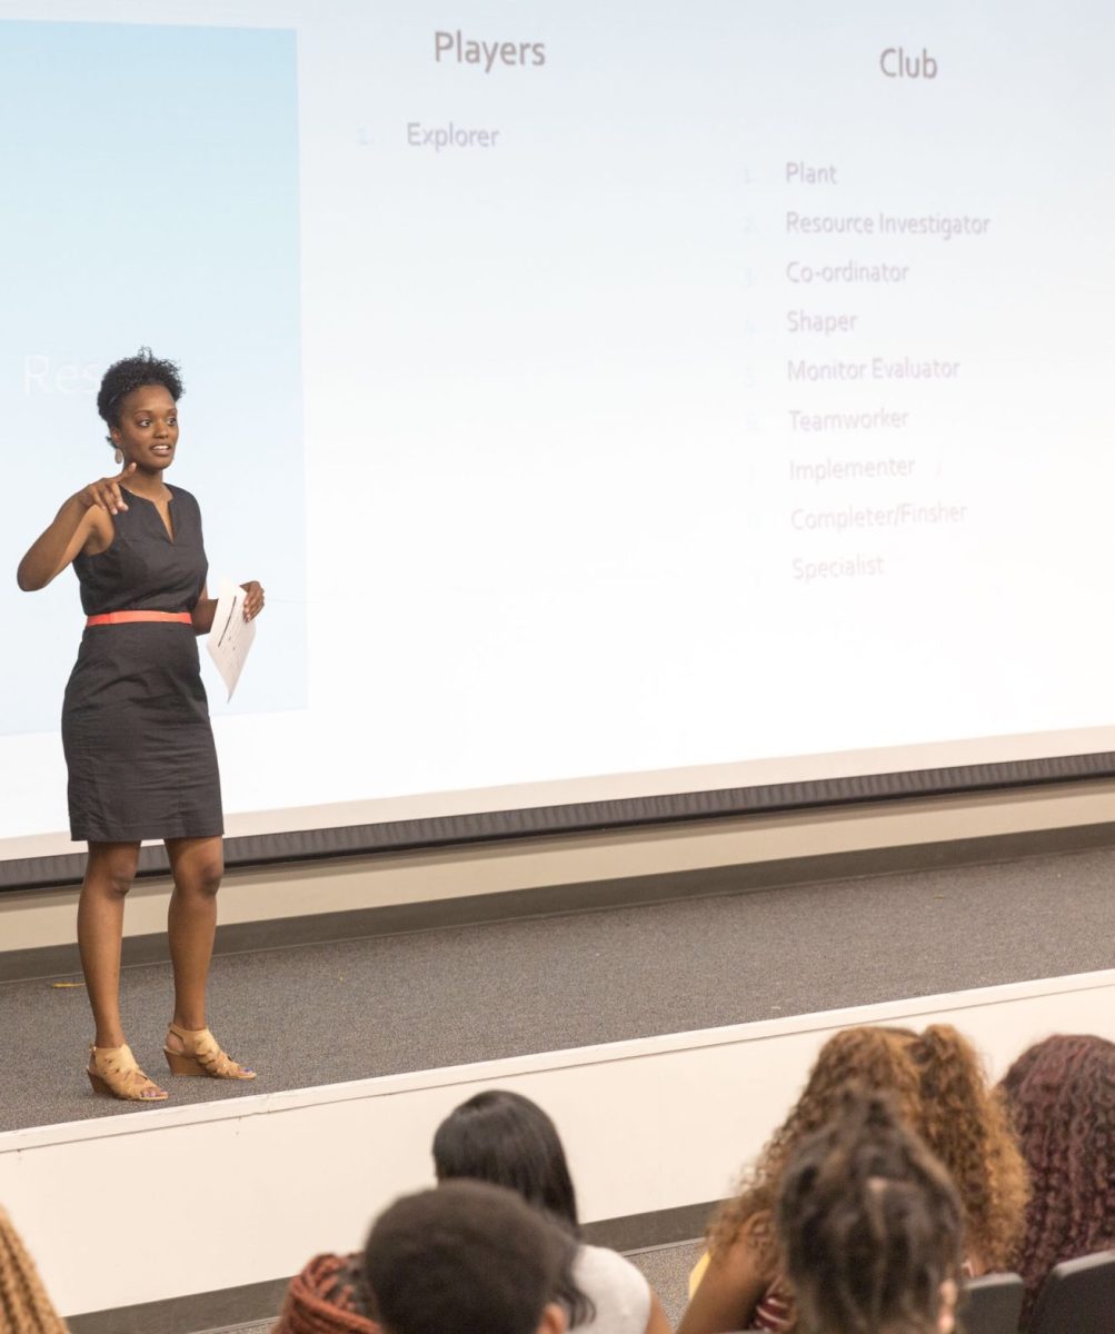
<path id="1" fill-rule="evenodd" d="M 826 1042 L 806 1090 L 714 1219 L 707 1269 L 678 1334 L 768 1330 L 794 1323 L 772 1210 L 786 1165 L 804 1137 L 828 1125 L 850 1086 L 890 1093 L 899 1114 L 951 1173 L 967 1234 L 966 1271 L 1010 1267 L 1022 1235 L 1026 1169 L 979 1058 L 947 1025 L 846 1029 Z"/>

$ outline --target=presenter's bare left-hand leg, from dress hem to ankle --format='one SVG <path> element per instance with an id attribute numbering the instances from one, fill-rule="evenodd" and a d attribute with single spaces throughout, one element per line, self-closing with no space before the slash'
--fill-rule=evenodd
<path id="1" fill-rule="evenodd" d="M 89 843 L 85 879 L 77 900 L 77 947 L 93 1010 L 99 1047 L 121 1047 L 120 940 L 124 899 L 132 887 L 139 843 Z"/>

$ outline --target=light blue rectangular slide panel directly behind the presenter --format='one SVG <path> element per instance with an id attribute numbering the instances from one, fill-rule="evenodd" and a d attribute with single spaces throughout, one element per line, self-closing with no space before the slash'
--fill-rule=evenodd
<path id="1" fill-rule="evenodd" d="M 0 396 L 21 515 L 5 555 L 117 471 L 96 390 L 151 344 L 184 370 L 169 480 L 200 499 L 213 587 L 265 570 L 291 599 L 253 707 L 304 707 L 295 35 L 0 23 Z M 8 570 L 0 616 L 36 644 L 5 655 L 0 734 L 53 731 L 76 579 L 28 598 Z"/>

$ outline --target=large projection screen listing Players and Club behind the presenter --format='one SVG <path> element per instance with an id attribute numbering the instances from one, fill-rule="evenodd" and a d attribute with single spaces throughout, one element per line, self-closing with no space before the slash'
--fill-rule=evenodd
<path id="1" fill-rule="evenodd" d="M 231 831 L 1112 747 L 1108 5 L 83 9 L 0 25 L 5 559 L 179 356 Z M 0 611 L 65 850 L 72 576 Z"/>

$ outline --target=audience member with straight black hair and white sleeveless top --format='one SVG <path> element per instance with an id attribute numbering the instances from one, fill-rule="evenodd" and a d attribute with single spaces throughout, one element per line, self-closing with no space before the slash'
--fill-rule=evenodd
<path id="1" fill-rule="evenodd" d="M 461 1103 L 433 1137 L 439 1182 L 487 1181 L 516 1191 L 580 1238 L 576 1193 L 553 1122 L 517 1093 L 493 1089 Z M 670 1334 L 647 1279 L 616 1251 L 579 1243 L 574 1279 L 592 1310 L 574 1310 L 571 1327 L 592 1334 Z"/>

